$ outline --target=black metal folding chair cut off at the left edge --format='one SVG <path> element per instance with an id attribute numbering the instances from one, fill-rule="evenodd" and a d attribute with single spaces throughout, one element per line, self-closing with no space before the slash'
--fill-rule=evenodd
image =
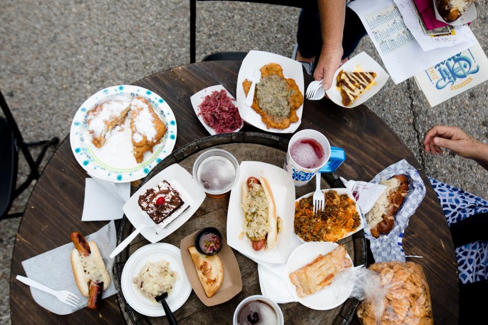
<path id="1" fill-rule="evenodd" d="M 5 118 L 0 116 L 0 220 L 4 218 L 19 217 L 23 213 L 8 214 L 12 202 L 22 193 L 33 180 L 39 178 L 39 165 L 44 157 L 47 148 L 59 143 L 58 138 L 51 140 L 24 142 L 17 123 L 10 112 L 7 102 L 0 91 L 0 106 Z M 29 152 L 28 147 L 42 146 L 36 160 Z M 19 160 L 19 149 L 22 151 L 31 171 L 27 179 L 17 188 L 17 167 Z"/>

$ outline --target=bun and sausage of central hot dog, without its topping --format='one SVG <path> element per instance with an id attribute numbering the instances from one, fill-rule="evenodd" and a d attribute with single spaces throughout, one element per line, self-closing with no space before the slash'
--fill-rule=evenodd
<path id="1" fill-rule="evenodd" d="M 271 186 L 269 185 L 266 178 L 261 177 L 258 180 L 255 177 L 250 177 L 245 182 L 242 183 L 241 196 L 242 196 L 242 205 L 245 211 L 246 211 L 245 208 L 246 202 L 250 202 L 250 204 L 253 204 L 254 201 L 254 200 L 248 200 L 248 197 L 251 195 L 251 192 L 249 190 L 249 186 L 250 186 L 249 180 L 251 180 L 251 183 L 255 182 L 260 184 L 263 187 L 264 196 L 266 198 L 266 207 L 268 208 L 268 213 L 265 217 L 268 219 L 268 222 L 265 229 L 266 235 L 249 234 L 249 233 L 247 233 L 246 235 L 251 240 L 251 244 L 254 250 L 261 250 L 263 247 L 265 247 L 266 249 L 270 249 L 275 247 L 278 241 L 278 216 L 276 214 L 275 198 L 273 197 Z"/>

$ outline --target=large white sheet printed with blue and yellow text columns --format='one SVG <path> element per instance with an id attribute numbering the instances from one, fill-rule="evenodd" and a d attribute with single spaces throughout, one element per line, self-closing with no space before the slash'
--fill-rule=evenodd
<path id="1" fill-rule="evenodd" d="M 396 84 L 474 44 L 474 35 L 470 30 L 471 39 L 468 42 L 424 52 L 405 26 L 393 0 L 356 0 L 348 6 L 361 19 Z"/>

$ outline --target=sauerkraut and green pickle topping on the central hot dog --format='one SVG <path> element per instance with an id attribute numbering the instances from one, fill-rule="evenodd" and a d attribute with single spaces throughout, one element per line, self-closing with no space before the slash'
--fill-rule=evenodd
<path id="1" fill-rule="evenodd" d="M 261 184 L 252 183 L 249 195 L 243 200 L 244 224 L 246 236 L 252 241 L 266 238 L 269 229 L 268 200 Z"/>

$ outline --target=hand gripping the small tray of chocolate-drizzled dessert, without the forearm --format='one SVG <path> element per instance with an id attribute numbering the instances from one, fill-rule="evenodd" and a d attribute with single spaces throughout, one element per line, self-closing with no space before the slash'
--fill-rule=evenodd
<path id="1" fill-rule="evenodd" d="M 320 52 L 319 62 L 314 72 L 314 79 L 323 79 L 322 87 L 327 90 L 332 86 L 334 73 L 341 66 L 342 47 L 323 47 Z"/>

